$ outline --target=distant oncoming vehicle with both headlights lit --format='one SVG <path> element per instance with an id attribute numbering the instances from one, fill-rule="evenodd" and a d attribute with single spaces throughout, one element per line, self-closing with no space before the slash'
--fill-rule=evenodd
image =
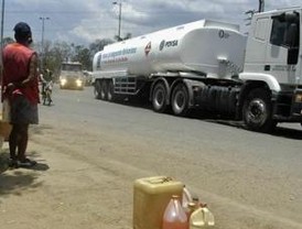
<path id="1" fill-rule="evenodd" d="M 83 90 L 85 86 L 82 64 L 78 62 L 63 62 L 60 74 L 61 89 L 79 89 Z"/>

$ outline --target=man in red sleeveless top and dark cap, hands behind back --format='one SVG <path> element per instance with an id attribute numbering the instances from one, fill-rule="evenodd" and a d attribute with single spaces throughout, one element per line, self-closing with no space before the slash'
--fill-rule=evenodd
<path id="1" fill-rule="evenodd" d="M 19 22 L 13 30 L 15 43 L 8 44 L 2 52 L 2 101 L 8 99 L 11 109 L 10 165 L 29 167 L 36 164 L 25 156 L 25 151 L 29 126 L 39 122 L 37 55 L 30 48 L 31 28 Z"/>

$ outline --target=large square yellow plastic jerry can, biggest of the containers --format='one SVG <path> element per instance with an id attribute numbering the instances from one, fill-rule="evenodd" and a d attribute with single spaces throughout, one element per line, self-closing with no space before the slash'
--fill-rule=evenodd
<path id="1" fill-rule="evenodd" d="M 182 196 L 183 184 L 168 176 L 134 182 L 133 229 L 161 229 L 164 210 L 173 195 Z"/>

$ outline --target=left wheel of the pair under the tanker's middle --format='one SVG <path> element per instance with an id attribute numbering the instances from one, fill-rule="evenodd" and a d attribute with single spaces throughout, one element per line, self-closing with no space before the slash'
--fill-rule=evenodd
<path id="1" fill-rule="evenodd" d="M 164 112 L 166 110 L 168 91 L 163 83 L 158 83 L 152 92 L 153 110 L 157 112 Z"/>

